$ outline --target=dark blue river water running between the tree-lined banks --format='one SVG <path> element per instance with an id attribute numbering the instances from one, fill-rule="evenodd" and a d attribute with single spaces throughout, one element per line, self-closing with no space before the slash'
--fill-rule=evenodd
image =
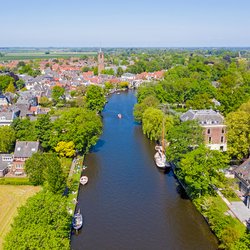
<path id="1" fill-rule="evenodd" d="M 157 169 L 154 143 L 133 120 L 132 91 L 114 94 L 103 111 L 104 131 L 85 158 L 78 208 L 84 224 L 73 250 L 207 250 L 217 241 L 170 171 Z M 123 115 L 122 119 L 117 114 Z"/>

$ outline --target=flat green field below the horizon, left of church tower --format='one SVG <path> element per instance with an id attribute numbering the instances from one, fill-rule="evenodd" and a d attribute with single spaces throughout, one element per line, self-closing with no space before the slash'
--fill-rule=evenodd
<path id="1" fill-rule="evenodd" d="M 44 51 L 26 51 L 26 52 L 7 52 L 4 56 L 0 57 L 1 61 L 10 60 L 32 60 L 32 59 L 50 59 L 50 58 L 70 58 L 70 57 L 81 57 L 84 55 L 96 55 L 97 52 L 63 52 L 53 51 L 49 54 L 45 54 Z"/>

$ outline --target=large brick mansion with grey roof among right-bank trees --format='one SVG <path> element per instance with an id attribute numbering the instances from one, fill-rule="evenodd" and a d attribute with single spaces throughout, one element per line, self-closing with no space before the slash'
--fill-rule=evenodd
<path id="1" fill-rule="evenodd" d="M 204 129 L 205 144 L 211 150 L 227 150 L 226 125 L 224 117 L 217 111 L 188 110 L 180 117 L 181 121 L 197 120 Z"/>

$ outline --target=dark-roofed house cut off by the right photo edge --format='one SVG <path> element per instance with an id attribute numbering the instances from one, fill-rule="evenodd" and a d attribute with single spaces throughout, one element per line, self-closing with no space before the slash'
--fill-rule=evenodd
<path id="1" fill-rule="evenodd" d="M 250 158 L 234 170 L 235 178 L 239 180 L 239 189 L 246 197 L 246 205 L 250 208 Z"/>

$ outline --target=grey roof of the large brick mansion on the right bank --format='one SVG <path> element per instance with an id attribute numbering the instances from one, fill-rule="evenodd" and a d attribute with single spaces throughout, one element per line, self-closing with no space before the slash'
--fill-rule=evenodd
<path id="1" fill-rule="evenodd" d="M 188 110 L 186 113 L 181 115 L 181 121 L 190 121 L 190 120 L 198 120 L 201 125 L 218 125 L 224 123 L 223 116 L 212 109 L 204 109 L 204 110 Z"/>

